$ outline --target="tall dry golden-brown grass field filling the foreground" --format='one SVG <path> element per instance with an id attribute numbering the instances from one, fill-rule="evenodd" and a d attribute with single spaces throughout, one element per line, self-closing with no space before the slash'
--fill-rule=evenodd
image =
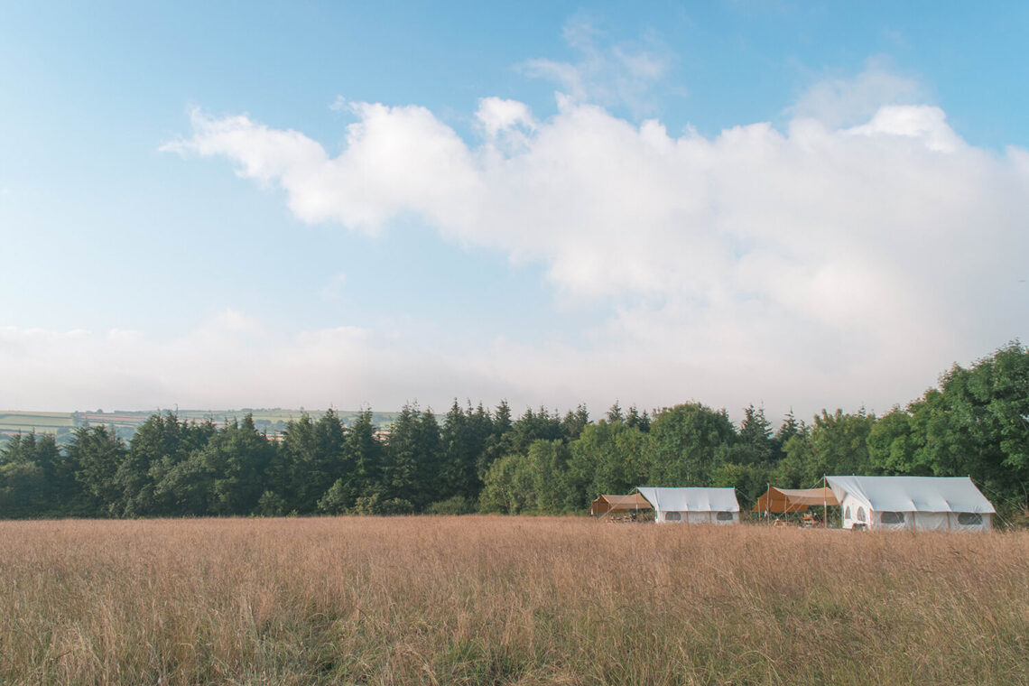
<path id="1" fill-rule="evenodd" d="M 1029 683 L 1029 534 L 0 523 L 3 684 Z"/>

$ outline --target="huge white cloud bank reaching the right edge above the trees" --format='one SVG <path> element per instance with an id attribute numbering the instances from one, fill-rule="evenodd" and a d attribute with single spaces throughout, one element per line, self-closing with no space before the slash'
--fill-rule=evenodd
<path id="1" fill-rule="evenodd" d="M 450 240 L 544 263 L 569 297 L 622 303 L 574 350 L 440 353 L 436 393 L 882 409 L 1026 335 L 1029 153 L 971 146 L 927 105 L 833 123 L 865 108 L 868 83 L 892 83 L 853 81 L 858 96 L 832 84 L 820 116 L 809 97 L 783 131 L 712 138 L 571 98 L 545 120 L 487 98 L 477 145 L 425 108 L 358 103 L 335 157 L 298 132 L 200 112 L 192 136 L 165 149 L 228 158 L 306 221 L 378 231 L 418 216 Z M 376 383 L 409 397 L 433 374 L 407 371 Z"/>

